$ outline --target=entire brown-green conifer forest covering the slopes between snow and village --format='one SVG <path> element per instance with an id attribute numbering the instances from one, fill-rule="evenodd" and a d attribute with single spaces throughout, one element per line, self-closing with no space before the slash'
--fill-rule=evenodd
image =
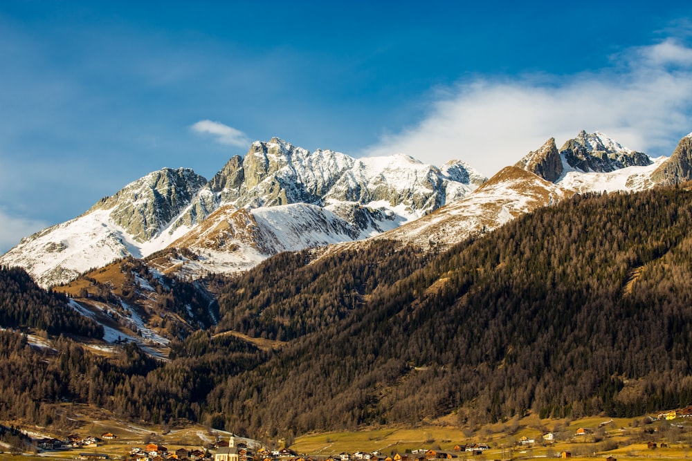
<path id="1" fill-rule="evenodd" d="M 75 335 L 98 326 L 63 315 L 57 295 L 13 290 L 26 274 L 2 270 L 2 326 L 64 336 L 49 349 L 0 332 L 0 410 L 50 423 L 51 402 L 88 402 L 273 437 L 450 413 L 473 426 L 685 406 L 691 229 L 692 192 L 666 188 L 575 196 L 443 254 L 388 241 L 280 254 L 210 277 L 217 326 L 172 341 L 167 362 L 131 344 L 95 357 Z"/>

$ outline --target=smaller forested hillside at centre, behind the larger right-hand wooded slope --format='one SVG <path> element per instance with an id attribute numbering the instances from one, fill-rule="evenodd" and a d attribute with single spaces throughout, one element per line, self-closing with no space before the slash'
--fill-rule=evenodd
<path id="1" fill-rule="evenodd" d="M 219 330 L 286 341 L 338 323 L 379 286 L 424 265 L 424 255 L 385 241 L 329 254 L 282 253 L 226 283 Z"/>

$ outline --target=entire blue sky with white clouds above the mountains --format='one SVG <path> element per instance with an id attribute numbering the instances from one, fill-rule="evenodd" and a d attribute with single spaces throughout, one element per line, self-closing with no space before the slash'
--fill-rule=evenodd
<path id="1" fill-rule="evenodd" d="M 691 33 L 685 1 L 3 1 L 0 252 L 272 136 L 487 176 L 581 129 L 669 155 Z"/>

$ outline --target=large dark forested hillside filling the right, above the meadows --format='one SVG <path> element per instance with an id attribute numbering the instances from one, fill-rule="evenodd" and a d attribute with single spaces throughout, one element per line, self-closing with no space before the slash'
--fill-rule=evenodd
<path id="1" fill-rule="evenodd" d="M 665 189 L 540 209 L 381 285 L 208 403 L 251 432 L 689 404 L 691 198 Z"/>

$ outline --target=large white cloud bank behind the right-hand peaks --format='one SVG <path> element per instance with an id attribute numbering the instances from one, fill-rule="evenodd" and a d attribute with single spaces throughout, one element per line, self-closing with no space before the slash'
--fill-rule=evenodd
<path id="1" fill-rule="evenodd" d="M 477 78 L 441 88 L 416 126 L 385 135 L 364 155 L 460 159 L 491 176 L 549 138 L 601 131 L 651 156 L 670 155 L 692 131 L 692 49 L 673 39 L 632 48 L 612 68 L 571 76 Z"/>

